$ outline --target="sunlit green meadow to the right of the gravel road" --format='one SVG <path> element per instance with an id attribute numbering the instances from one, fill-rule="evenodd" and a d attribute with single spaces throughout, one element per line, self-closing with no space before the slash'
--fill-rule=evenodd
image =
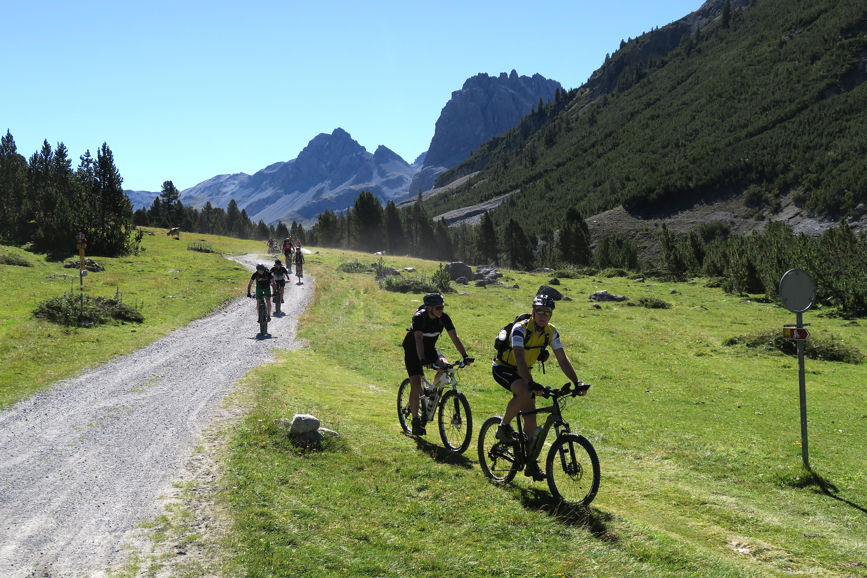
<path id="1" fill-rule="evenodd" d="M 807 361 L 817 480 L 799 470 L 796 362 L 721 346 L 792 322 L 785 310 L 697 283 L 562 279 L 575 301 L 559 303 L 552 322 L 579 377 L 594 384 L 566 418 L 596 445 L 603 480 L 589 512 L 558 509 L 545 484 L 523 476 L 488 484 L 475 456 L 479 425 L 508 399 L 490 376 L 493 336 L 547 278 L 507 273 L 520 289 L 447 295 L 479 360 L 461 374 L 473 445 L 453 457 L 439 449 L 435 427 L 417 441 L 396 423 L 405 377 L 398 343 L 419 295 L 336 271 L 352 257 L 364 258 L 339 250 L 310 258 L 316 289 L 300 324 L 308 347 L 248 376 L 256 399 L 231 439 L 225 501 L 251 577 L 867 575 L 867 366 Z M 387 260 L 428 274 L 436 265 Z M 595 289 L 673 308 L 590 308 L 584 298 Z M 867 350 L 863 328 L 806 317 L 814 334 Z M 564 383 L 548 366 L 537 379 Z M 308 411 L 341 440 L 299 454 L 272 425 Z M 852 562 L 860 566 L 840 565 Z"/>

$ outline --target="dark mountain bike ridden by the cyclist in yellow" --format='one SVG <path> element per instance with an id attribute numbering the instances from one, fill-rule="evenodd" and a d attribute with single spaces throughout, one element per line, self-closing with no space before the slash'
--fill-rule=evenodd
<path id="1" fill-rule="evenodd" d="M 599 490 L 599 458 L 587 438 L 570 432 L 562 411 L 569 399 L 575 398 L 590 385 L 579 382 L 575 389 L 567 383 L 560 389 L 545 387 L 544 398 L 551 398 L 551 406 L 528 412 L 518 412 L 519 441 L 512 443 L 497 439 L 500 417 L 487 419 L 479 430 L 479 465 L 485 475 L 499 484 L 511 482 L 525 465 L 538 460 L 551 427 L 556 433 L 554 443 L 545 460 L 545 474 L 551 496 L 561 502 L 589 505 Z M 521 418 L 533 413 L 548 413 L 544 425 L 537 434 L 527 439 Z"/>

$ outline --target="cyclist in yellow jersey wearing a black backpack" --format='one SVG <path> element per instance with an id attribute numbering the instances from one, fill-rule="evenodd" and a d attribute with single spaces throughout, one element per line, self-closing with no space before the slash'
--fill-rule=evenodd
<path id="1" fill-rule="evenodd" d="M 554 306 L 554 299 L 550 295 L 536 295 L 536 298 L 533 299 L 531 317 L 525 321 L 518 321 L 512 326 L 512 334 L 510 335 L 512 347 L 498 354 L 493 360 L 494 381 L 512 392 L 512 399 L 505 406 L 505 415 L 497 428 L 497 439 L 505 443 L 515 444 L 524 441 L 536 431 L 535 414 L 524 417 L 524 435 L 526 438 L 522 438 L 520 433 L 515 432 L 511 424 L 518 412 L 536 409 L 536 392 L 541 390 L 542 386 L 533 381 L 530 370 L 538 360 L 539 354 L 542 353 L 545 343 L 554 350 L 557 363 L 563 373 L 577 387 L 578 377 L 575 369 L 564 353 L 557 328 L 551 325 Z M 586 390 L 579 395 L 585 393 Z M 539 469 L 537 462 L 527 464 L 524 475 L 532 477 L 536 481 L 544 479 L 544 473 Z"/>

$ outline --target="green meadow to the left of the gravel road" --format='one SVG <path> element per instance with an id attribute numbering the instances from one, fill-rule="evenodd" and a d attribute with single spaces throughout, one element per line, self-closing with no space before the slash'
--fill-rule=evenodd
<path id="1" fill-rule="evenodd" d="M 206 315 L 226 300 L 244 293 L 247 274 L 237 263 L 218 254 L 186 250 L 186 241 L 212 244 L 224 253 L 258 251 L 262 244 L 229 237 L 186 235 L 183 242 L 165 230 L 146 235 L 139 256 L 95 257 L 106 268 L 84 278 L 90 296 L 122 294 L 127 303 L 144 302 L 144 323 L 120 322 L 97 328 L 68 328 L 34 319 L 31 312 L 50 297 L 78 295 L 78 270 L 63 269 L 68 260 L 15 247 L 0 253 L 26 259 L 33 267 L 0 263 L 0 407 L 62 380 L 87 367 L 127 354 Z M 88 256 L 89 257 L 89 256 Z M 170 272 L 171 271 L 171 272 Z"/>

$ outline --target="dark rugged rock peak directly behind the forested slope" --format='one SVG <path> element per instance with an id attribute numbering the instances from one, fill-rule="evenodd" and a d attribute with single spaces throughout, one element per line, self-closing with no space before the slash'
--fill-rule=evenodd
<path id="1" fill-rule="evenodd" d="M 557 81 L 539 74 L 518 76 L 514 69 L 508 75 L 482 73 L 466 79 L 436 121 L 424 163 L 409 185 L 410 195 L 433 188 L 440 173 L 458 165 L 482 143 L 518 125 L 540 97 L 545 102 L 553 100 L 557 88 L 561 88 Z"/>

